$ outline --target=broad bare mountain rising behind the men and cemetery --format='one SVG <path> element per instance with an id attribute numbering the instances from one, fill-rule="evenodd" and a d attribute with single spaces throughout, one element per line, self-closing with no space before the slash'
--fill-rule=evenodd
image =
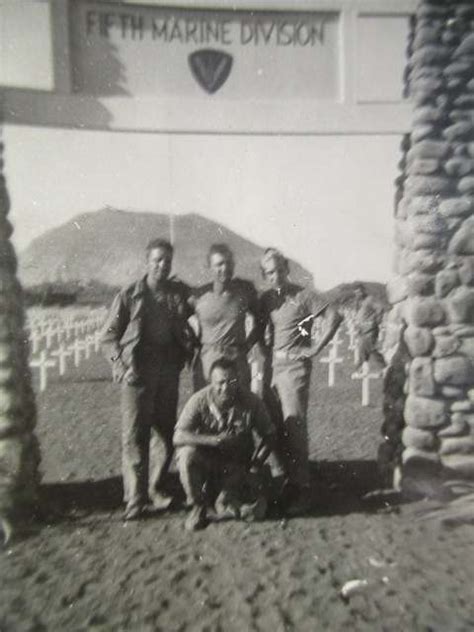
<path id="1" fill-rule="evenodd" d="M 169 237 L 170 218 L 160 213 L 134 213 L 105 208 L 76 216 L 47 231 L 20 253 L 20 279 L 26 287 L 52 282 L 91 280 L 122 286 L 142 274 L 145 247 L 155 237 Z M 191 213 L 174 217 L 173 272 L 191 285 L 207 281 L 209 246 L 225 242 L 234 251 L 236 275 L 261 285 L 263 248 L 222 224 Z M 291 262 L 296 283 L 312 285 L 312 276 Z"/>

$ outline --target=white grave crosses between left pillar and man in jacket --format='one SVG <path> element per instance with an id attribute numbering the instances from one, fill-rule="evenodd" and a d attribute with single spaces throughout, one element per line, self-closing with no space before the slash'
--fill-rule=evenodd
<path id="1" fill-rule="evenodd" d="M 30 342 L 33 353 L 38 352 L 41 339 L 44 339 L 45 342 L 45 348 L 41 349 L 39 356 L 30 361 L 30 367 L 38 369 L 39 390 L 41 392 L 46 390 L 50 369 L 57 366 L 59 375 L 63 376 L 67 370 L 68 358 L 72 357 L 74 366 L 78 367 L 83 356 L 85 359 L 90 358 L 92 349 L 96 353 L 99 351 L 100 327 L 104 315 L 103 309 L 96 309 L 90 310 L 85 318 L 81 317 L 80 312 L 63 317 L 56 312 L 54 315 L 36 316 L 30 320 Z M 67 344 L 71 334 L 73 334 L 73 341 Z M 86 335 L 81 338 L 81 334 Z M 58 348 L 50 351 L 48 355 L 51 339 L 54 337 L 58 342 Z M 56 357 L 56 359 L 50 356 Z"/>

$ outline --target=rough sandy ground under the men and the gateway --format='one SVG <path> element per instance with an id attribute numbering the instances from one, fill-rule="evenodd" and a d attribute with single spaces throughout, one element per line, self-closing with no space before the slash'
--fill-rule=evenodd
<path id="1" fill-rule="evenodd" d="M 472 629 L 472 527 L 420 519 L 426 501 L 363 499 L 378 487 L 381 382 L 363 408 L 343 352 L 332 388 L 315 362 L 312 515 L 192 534 L 179 509 L 123 523 L 119 391 L 100 355 L 51 372 L 37 427 L 47 510 L 0 550 L 1 632 Z M 181 403 L 186 373 L 182 390 Z"/>

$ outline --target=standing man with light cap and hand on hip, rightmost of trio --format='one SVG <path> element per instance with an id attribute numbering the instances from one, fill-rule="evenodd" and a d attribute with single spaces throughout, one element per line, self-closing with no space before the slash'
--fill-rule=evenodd
<path id="1" fill-rule="evenodd" d="M 260 324 L 271 357 L 271 386 L 280 408 L 281 452 L 288 471 L 289 514 L 310 506 L 307 409 L 311 358 L 328 344 L 342 320 L 326 300 L 289 280 L 288 260 L 268 248 L 261 262 L 270 285 L 260 299 Z M 311 342 L 311 326 L 323 318 L 319 340 Z"/>

